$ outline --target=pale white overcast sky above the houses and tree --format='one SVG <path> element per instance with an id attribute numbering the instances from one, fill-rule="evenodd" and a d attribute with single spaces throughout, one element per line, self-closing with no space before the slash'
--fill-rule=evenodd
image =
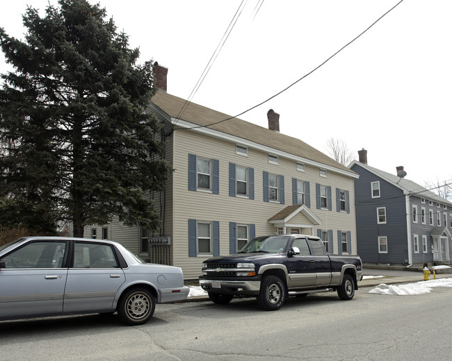
<path id="1" fill-rule="evenodd" d="M 0 26 L 24 38 L 29 4 L 2 1 Z M 91 1 L 94 3 L 95 1 Z M 368 164 L 408 179 L 449 181 L 451 169 L 451 0 L 101 0 L 140 62 L 168 67 L 168 93 L 280 131 L 328 153 L 327 140 L 368 151 Z M 240 16 L 236 13 L 239 11 Z M 219 53 L 218 44 L 234 22 Z M 0 56 L 0 72 L 8 67 Z"/>

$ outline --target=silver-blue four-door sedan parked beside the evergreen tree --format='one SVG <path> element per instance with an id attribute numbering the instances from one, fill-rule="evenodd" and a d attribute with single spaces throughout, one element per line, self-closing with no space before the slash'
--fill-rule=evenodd
<path id="1" fill-rule="evenodd" d="M 117 311 L 138 325 L 188 291 L 179 267 L 145 263 L 116 242 L 24 237 L 0 247 L 0 319 Z"/>

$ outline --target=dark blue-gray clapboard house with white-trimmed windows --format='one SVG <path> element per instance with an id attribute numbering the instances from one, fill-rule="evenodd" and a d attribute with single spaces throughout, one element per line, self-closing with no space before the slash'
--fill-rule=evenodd
<path id="1" fill-rule="evenodd" d="M 355 178 L 357 251 L 364 263 L 422 267 L 452 259 L 452 203 L 404 178 L 367 164 L 362 149 Z"/>

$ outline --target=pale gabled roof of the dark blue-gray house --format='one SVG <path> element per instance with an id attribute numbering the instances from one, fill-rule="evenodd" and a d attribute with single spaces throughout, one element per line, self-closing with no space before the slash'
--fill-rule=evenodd
<path id="1" fill-rule="evenodd" d="M 359 165 L 360 167 L 366 169 L 367 171 L 370 171 L 371 173 L 375 174 L 376 176 L 384 179 L 388 183 L 391 183 L 395 187 L 400 188 L 401 190 L 403 190 L 403 192 L 405 194 L 419 196 L 421 198 L 430 199 L 430 201 L 435 201 L 437 203 L 442 203 L 442 204 L 452 206 L 452 202 L 448 201 L 447 199 L 442 198 L 442 196 L 438 196 L 436 193 L 434 193 L 430 190 L 427 190 L 425 187 L 422 187 L 421 185 L 414 183 L 413 181 L 410 181 L 406 178 L 400 178 L 400 177 L 396 176 L 396 174 L 387 173 L 386 171 L 376 169 L 376 168 L 366 165 L 364 163 L 358 162 L 357 160 L 353 160 L 353 162 L 348 167 L 352 168 L 354 165 Z"/>

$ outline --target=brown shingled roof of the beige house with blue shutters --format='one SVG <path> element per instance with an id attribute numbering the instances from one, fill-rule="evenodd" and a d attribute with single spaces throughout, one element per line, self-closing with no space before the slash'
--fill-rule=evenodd
<path id="1" fill-rule="evenodd" d="M 200 106 L 196 103 L 188 103 L 188 106 L 186 106 L 186 101 L 184 99 L 160 90 L 157 90 L 151 101 L 160 111 L 165 112 L 170 118 L 170 121 L 175 123 L 176 126 L 185 126 L 188 128 L 191 126 L 208 126 L 207 128 L 213 131 L 225 135 L 232 135 L 233 137 L 241 138 L 246 142 L 261 144 L 262 146 L 302 158 L 302 160 L 311 160 L 313 164 L 318 163 L 319 166 L 325 165 L 332 167 L 342 174 L 357 178 L 357 174 L 348 167 L 341 165 L 339 162 L 326 156 L 313 146 L 310 146 L 295 137 L 271 131 L 268 128 L 257 126 L 256 124 L 252 124 L 239 118 L 232 117 L 232 119 L 223 121 L 231 116 Z M 179 115 L 179 112 L 184 106 L 186 106 L 184 112 Z M 216 122 L 219 123 L 211 126 L 209 125 Z"/>

